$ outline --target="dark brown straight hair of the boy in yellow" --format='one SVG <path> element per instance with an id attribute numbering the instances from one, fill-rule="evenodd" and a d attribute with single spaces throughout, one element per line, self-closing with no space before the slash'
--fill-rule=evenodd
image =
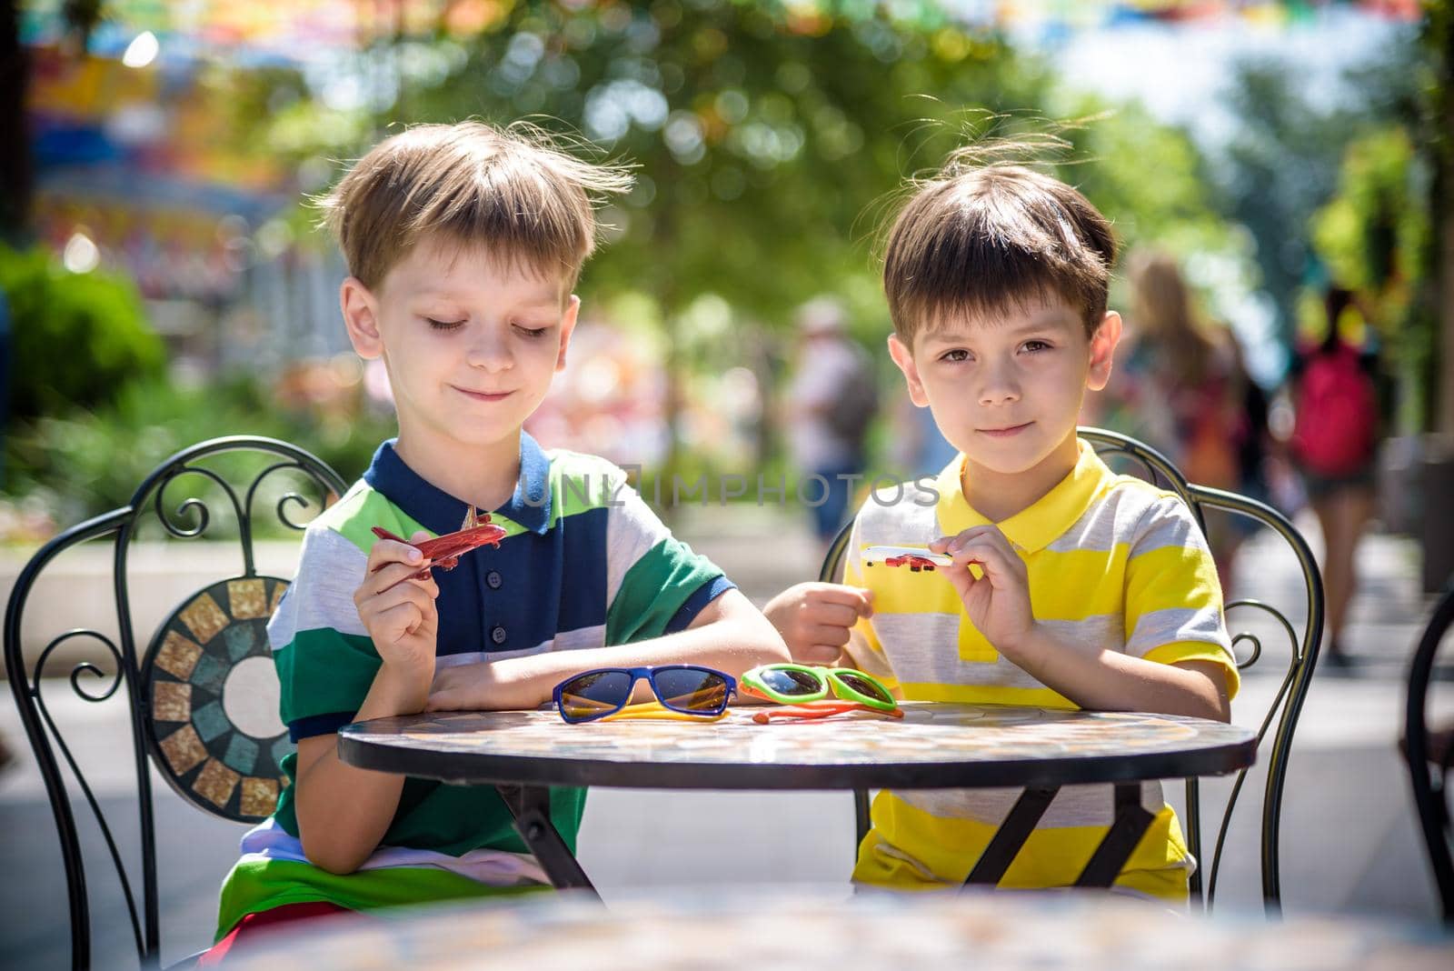
<path id="1" fill-rule="evenodd" d="M 1060 297 L 1093 334 L 1105 315 L 1115 237 L 1064 182 L 1008 163 L 951 157 L 917 185 L 888 235 L 884 292 L 907 346 L 952 317 L 983 318 Z"/>

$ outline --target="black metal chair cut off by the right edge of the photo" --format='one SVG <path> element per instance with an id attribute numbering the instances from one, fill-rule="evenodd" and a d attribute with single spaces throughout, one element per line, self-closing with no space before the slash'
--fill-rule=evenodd
<path id="1" fill-rule="evenodd" d="M 1450 846 L 1448 772 L 1454 765 L 1454 724 L 1429 731 L 1425 717 L 1429 682 L 1434 679 L 1434 658 L 1445 634 L 1454 626 L 1454 579 L 1444 587 L 1423 637 L 1409 664 L 1409 698 L 1403 720 L 1403 756 L 1413 785 L 1413 805 L 1419 811 L 1419 827 L 1429 852 L 1429 868 L 1439 891 L 1444 920 L 1454 923 L 1454 858 Z"/>

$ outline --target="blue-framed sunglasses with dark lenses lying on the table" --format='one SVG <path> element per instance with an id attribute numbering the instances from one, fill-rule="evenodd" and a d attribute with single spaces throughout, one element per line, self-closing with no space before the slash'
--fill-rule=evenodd
<path id="1" fill-rule="evenodd" d="M 560 717 L 570 724 L 614 715 L 631 701 L 640 679 L 663 708 L 683 715 L 715 718 L 727 711 L 727 701 L 737 690 L 731 674 L 699 664 L 660 664 L 657 667 L 598 667 L 571 674 L 555 685 L 551 696 Z"/>

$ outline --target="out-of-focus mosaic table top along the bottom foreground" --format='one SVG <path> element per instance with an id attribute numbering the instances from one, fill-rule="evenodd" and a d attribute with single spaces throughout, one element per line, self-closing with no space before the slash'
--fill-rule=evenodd
<path id="1" fill-rule="evenodd" d="M 240 955 L 241 956 L 241 955 Z M 284 932 L 238 970 L 590 968 L 592 971 L 1066 968 L 1075 971 L 1434 971 L 1454 967 L 1437 926 L 1338 917 L 1172 913 L 1101 894 L 787 895 L 675 891 L 599 904 L 551 895 L 515 906 L 343 917 Z"/>

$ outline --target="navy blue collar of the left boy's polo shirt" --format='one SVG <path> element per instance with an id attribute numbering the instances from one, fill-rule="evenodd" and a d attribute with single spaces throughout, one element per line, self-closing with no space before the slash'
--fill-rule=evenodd
<path id="1" fill-rule="evenodd" d="M 398 458 L 388 439 L 374 452 L 374 461 L 364 472 L 364 481 L 384 493 L 410 519 L 433 533 L 459 529 L 465 503 L 425 480 Z M 550 456 L 528 432 L 521 432 L 521 475 L 510 501 L 489 510 L 494 519 L 509 519 L 534 532 L 544 533 L 551 522 Z M 503 523 L 499 523 L 503 525 Z"/>

